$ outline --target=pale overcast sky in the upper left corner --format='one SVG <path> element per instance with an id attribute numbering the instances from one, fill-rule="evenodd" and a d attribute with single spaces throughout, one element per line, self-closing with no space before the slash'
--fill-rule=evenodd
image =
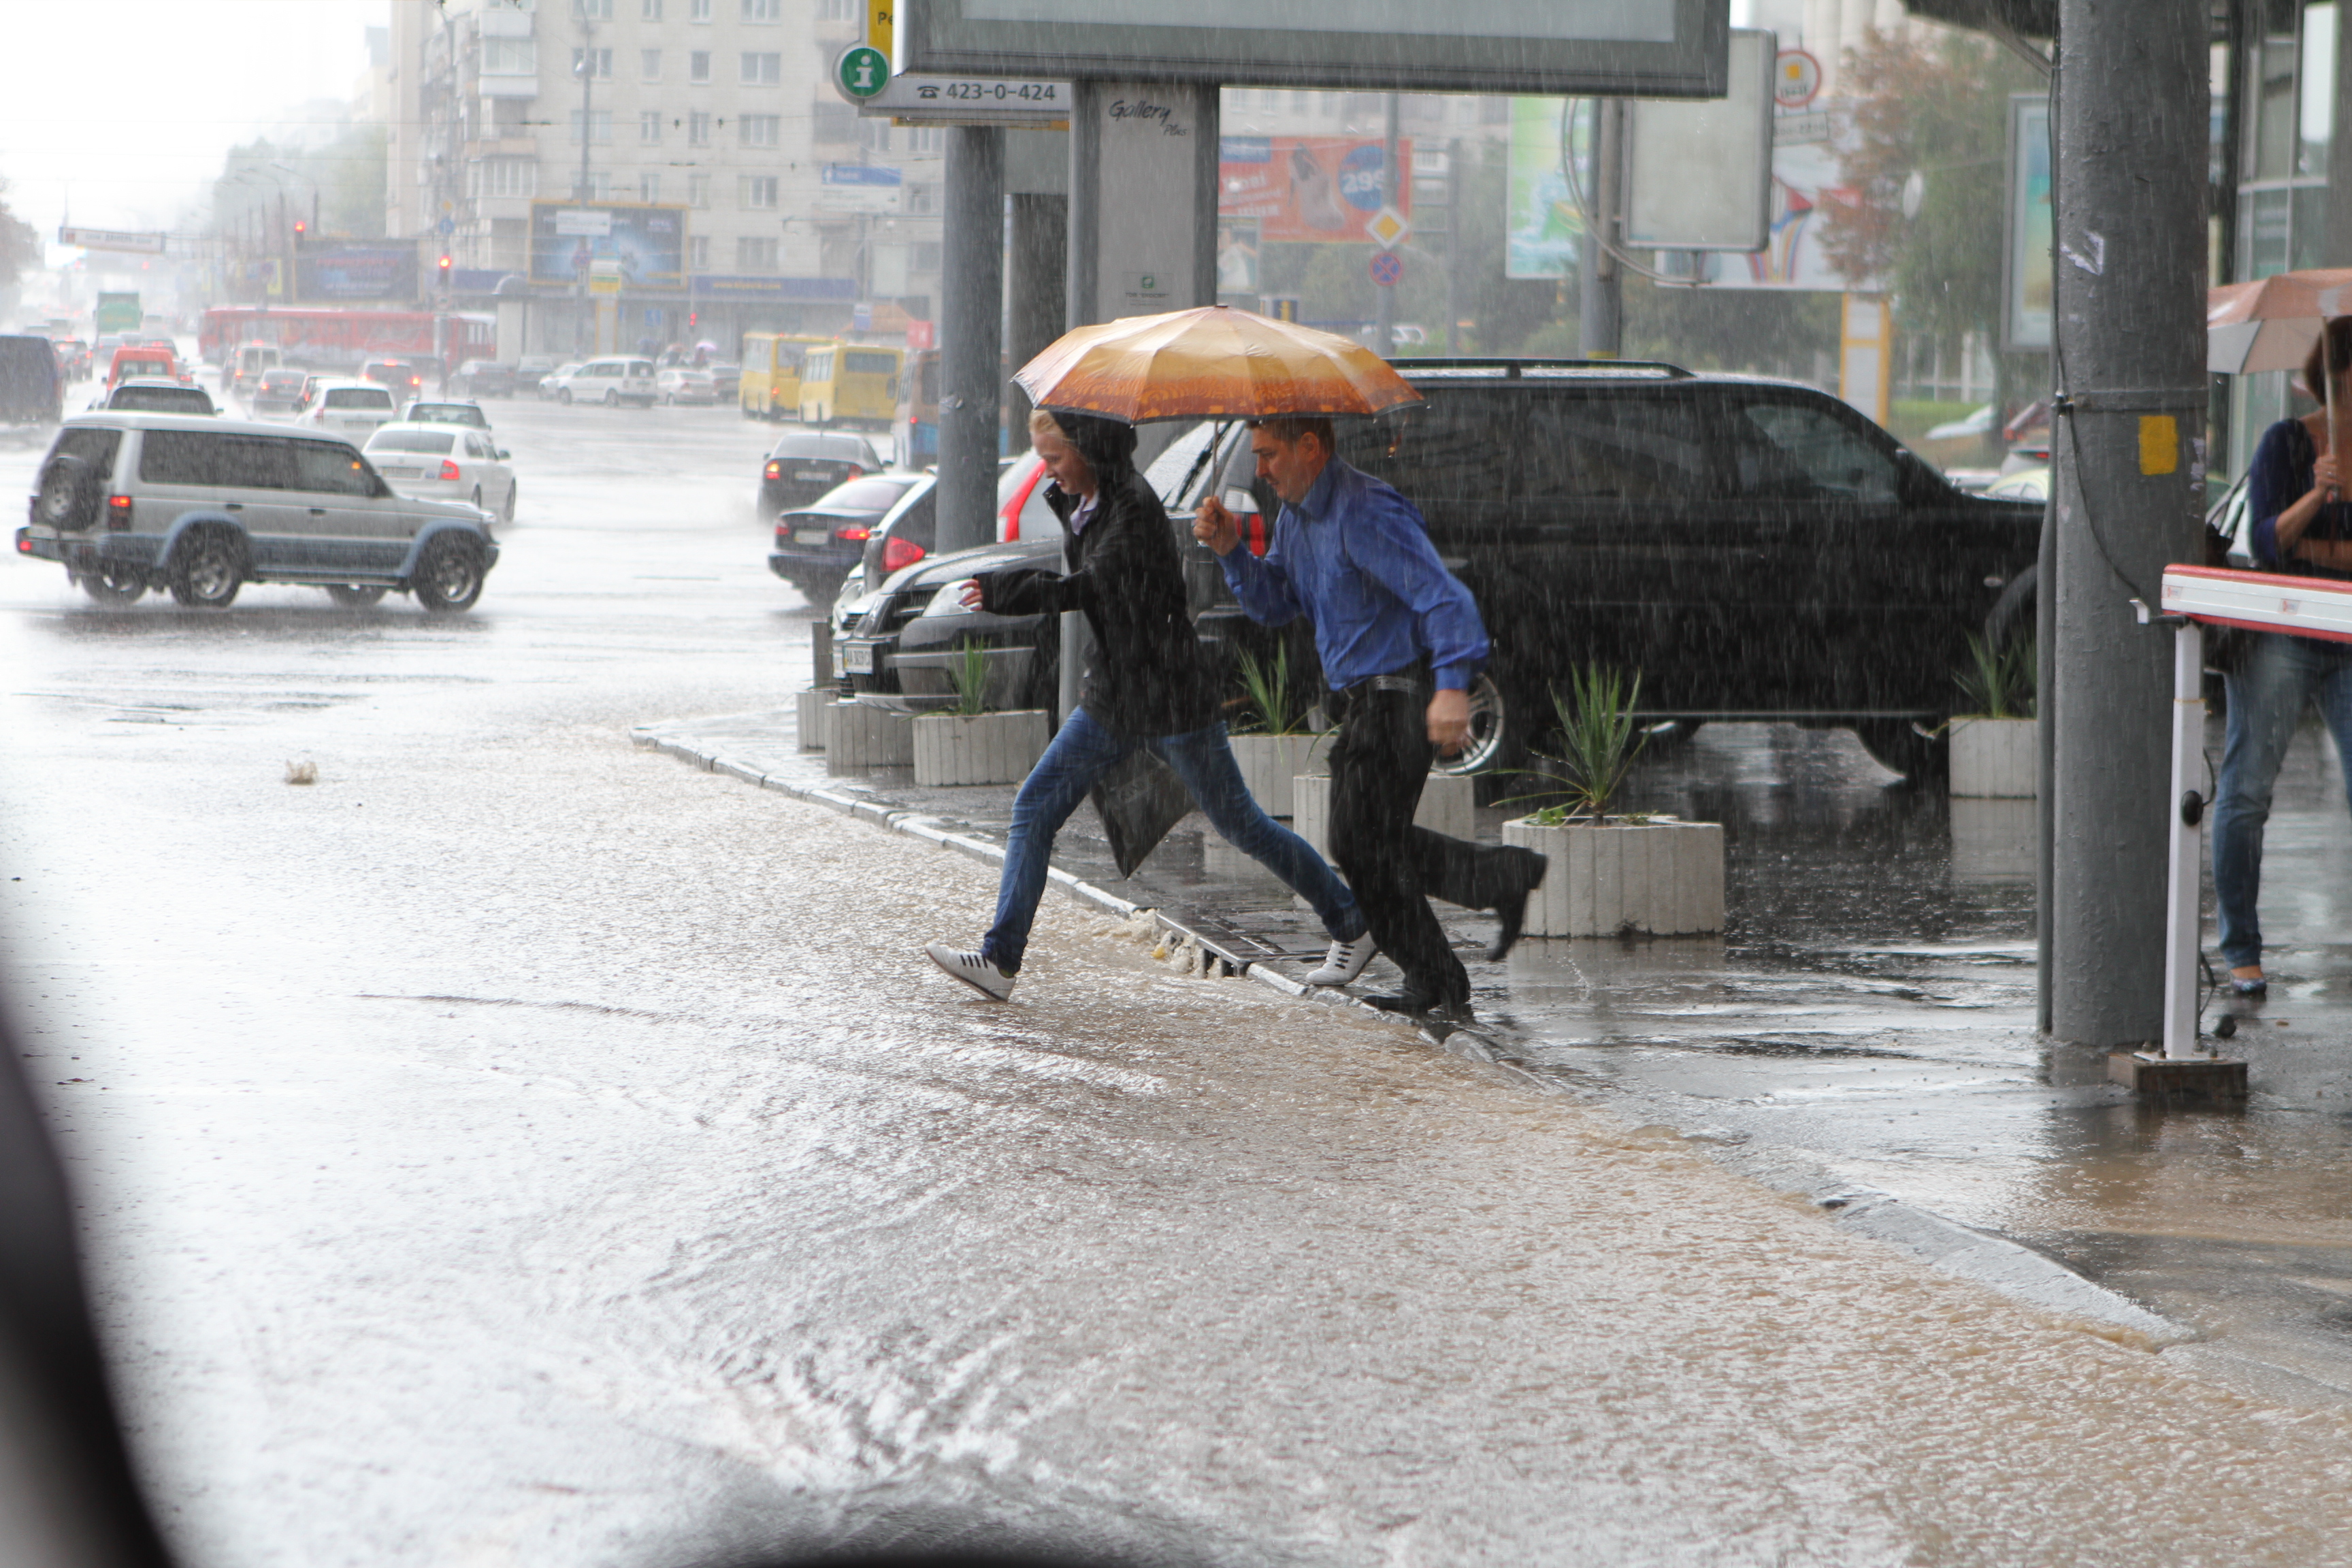
<path id="1" fill-rule="evenodd" d="M 348 101 L 367 68 L 365 28 L 383 26 L 390 5 L 0 0 L 9 207 L 52 247 L 68 207 L 94 228 L 162 228 L 230 146 L 308 99 Z"/>

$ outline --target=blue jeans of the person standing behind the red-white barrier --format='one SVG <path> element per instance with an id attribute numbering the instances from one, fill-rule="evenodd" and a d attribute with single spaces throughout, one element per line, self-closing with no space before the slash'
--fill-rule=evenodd
<path id="1" fill-rule="evenodd" d="M 2263 961 L 2263 823 L 2270 788 L 2296 738 L 2303 705 L 2336 733 L 2336 757 L 2352 780 L 2352 644 L 2256 632 L 2246 663 L 2225 675 L 2230 726 L 2213 797 L 2213 900 L 2220 905 L 2220 954 L 2230 969 Z"/>

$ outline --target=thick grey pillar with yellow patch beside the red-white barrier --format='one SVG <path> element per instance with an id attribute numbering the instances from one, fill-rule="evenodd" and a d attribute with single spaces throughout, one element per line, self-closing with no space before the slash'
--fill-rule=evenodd
<path id="1" fill-rule="evenodd" d="M 2060 0 L 2051 1032 L 2164 1025 L 2171 632 L 2140 625 L 2197 559 L 2206 409 L 2206 5 Z"/>

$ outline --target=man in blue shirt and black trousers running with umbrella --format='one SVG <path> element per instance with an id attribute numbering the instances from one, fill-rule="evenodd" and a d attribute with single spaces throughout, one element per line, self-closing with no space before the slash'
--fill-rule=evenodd
<path id="1" fill-rule="evenodd" d="M 1364 900 L 1381 952 L 1404 971 L 1404 990 L 1378 1006 L 1465 1018 L 1470 976 L 1430 893 L 1494 910 L 1501 931 L 1486 957 L 1498 961 L 1519 940 L 1526 896 L 1545 872 L 1531 849 L 1414 827 L 1432 752 L 1470 741 L 1468 689 L 1486 663 L 1486 628 L 1414 503 L 1334 456 L 1329 418 L 1258 418 L 1249 444 L 1282 496 L 1272 548 L 1263 559 L 1237 550 L 1240 527 L 1216 498 L 1202 503 L 1192 536 L 1216 550 L 1251 621 L 1315 623 L 1341 722 L 1331 858 Z"/>

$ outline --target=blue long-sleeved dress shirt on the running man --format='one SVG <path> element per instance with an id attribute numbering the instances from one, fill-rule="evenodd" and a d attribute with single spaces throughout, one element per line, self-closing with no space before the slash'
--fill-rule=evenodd
<path id="1" fill-rule="evenodd" d="M 1345 691 L 1428 658 L 1439 691 L 1468 691 L 1486 663 L 1486 628 L 1470 590 L 1437 559 L 1411 501 L 1331 458 L 1303 501 L 1284 503 L 1263 557 L 1221 555 L 1225 583 L 1251 621 L 1315 623 L 1324 679 Z"/>

